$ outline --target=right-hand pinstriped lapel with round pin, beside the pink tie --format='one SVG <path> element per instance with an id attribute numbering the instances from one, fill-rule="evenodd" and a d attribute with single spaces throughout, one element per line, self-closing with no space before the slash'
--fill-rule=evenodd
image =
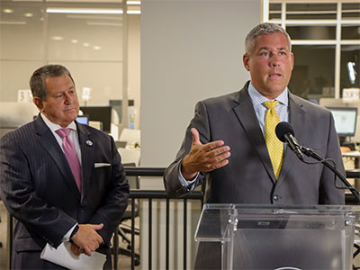
<path id="1" fill-rule="evenodd" d="M 76 127 L 79 136 L 79 144 L 81 149 L 81 180 L 82 193 L 85 192 L 89 184 L 90 176 L 93 172 L 94 166 L 94 140 L 91 139 L 91 133 L 85 127 L 76 122 Z"/>

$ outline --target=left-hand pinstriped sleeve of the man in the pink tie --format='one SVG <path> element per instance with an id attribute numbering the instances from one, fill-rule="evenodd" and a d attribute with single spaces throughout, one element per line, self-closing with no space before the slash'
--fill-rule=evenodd
<path id="1" fill-rule="evenodd" d="M 36 158 L 36 153 L 34 155 Z M 49 205 L 34 192 L 32 177 L 38 172 L 31 171 L 28 158 L 11 134 L 0 139 L 1 197 L 7 210 L 31 233 L 58 247 L 76 220 Z"/>

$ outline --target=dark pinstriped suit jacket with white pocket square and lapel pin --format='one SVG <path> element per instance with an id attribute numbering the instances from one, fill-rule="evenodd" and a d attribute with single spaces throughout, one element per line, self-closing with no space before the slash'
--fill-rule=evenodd
<path id="1" fill-rule="evenodd" d="M 13 268 L 57 268 L 40 259 L 40 250 L 46 243 L 58 247 L 76 222 L 103 223 L 98 233 L 108 253 L 128 204 L 129 184 L 113 139 L 77 122 L 76 127 L 81 193 L 58 141 L 40 117 L 0 139 L 0 195 L 17 220 Z"/>

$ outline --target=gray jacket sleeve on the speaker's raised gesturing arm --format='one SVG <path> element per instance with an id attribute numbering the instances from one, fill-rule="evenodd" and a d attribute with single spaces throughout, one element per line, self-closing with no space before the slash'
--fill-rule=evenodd
<path id="1" fill-rule="evenodd" d="M 206 144 L 211 141 L 208 114 L 206 111 L 206 105 L 203 102 L 196 103 L 195 114 L 186 129 L 185 138 L 181 148 L 176 154 L 175 161 L 167 166 L 166 172 L 164 174 L 164 185 L 166 192 L 176 197 L 181 197 L 190 192 L 188 188 L 184 187 L 180 183 L 178 174 L 179 166 L 181 165 L 183 158 L 189 153 L 193 143 L 193 135 L 191 133 L 192 128 L 195 128 L 199 131 L 202 144 Z M 204 173 L 200 173 L 194 185 L 200 185 L 203 183 L 203 181 Z"/>

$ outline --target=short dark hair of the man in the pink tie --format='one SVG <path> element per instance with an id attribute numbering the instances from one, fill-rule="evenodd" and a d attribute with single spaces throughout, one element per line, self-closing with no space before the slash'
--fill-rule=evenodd
<path id="1" fill-rule="evenodd" d="M 37 96 L 40 97 L 41 100 L 45 100 L 46 95 L 48 94 L 48 89 L 46 89 L 45 86 L 45 80 L 48 77 L 63 75 L 69 76 L 75 85 L 74 79 L 71 76 L 70 71 L 67 70 L 67 67 L 63 67 L 61 65 L 46 65 L 36 69 L 30 78 L 32 96 Z"/>

